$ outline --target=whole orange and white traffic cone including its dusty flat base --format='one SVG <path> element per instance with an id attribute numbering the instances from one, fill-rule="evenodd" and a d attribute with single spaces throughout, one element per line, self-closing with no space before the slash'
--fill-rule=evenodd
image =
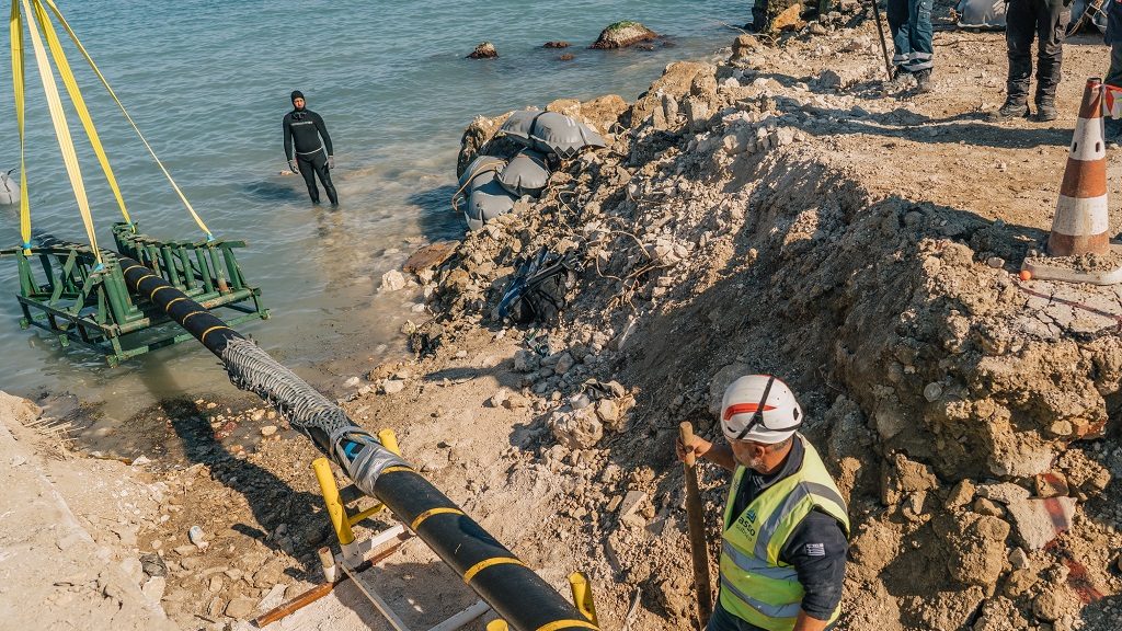
<path id="1" fill-rule="evenodd" d="M 1107 255 L 1112 244 L 1106 209 L 1106 139 L 1103 122 L 1103 82 L 1087 80 L 1079 118 L 1064 168 L 1056 217 L 1048 236 L 1048 256 L 1024 259 L 1021 278 L 1111 285 L 1122 282 L 1119 269 L 1075 269 L 1049 257 Z M 1116 246 L 1115 246 L 1116 247 Z"/>

